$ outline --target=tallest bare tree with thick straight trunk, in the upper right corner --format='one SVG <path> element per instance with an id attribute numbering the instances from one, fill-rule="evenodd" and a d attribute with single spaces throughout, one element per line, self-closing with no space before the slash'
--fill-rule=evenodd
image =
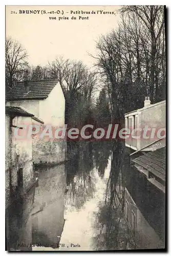
<path id="1" fill-rule="evenodd" d="M 158 60 L 161 55 L 164 57 L 162 60 L 165 62 L 164 6 L 125 6 L 121 8 L 121 13 L 135 14 L 136 18 L 141 20 L 145 37 L 149 38 L 147 40 L 150 45 L 148 94 L 152 101 L 155 100 L 157 102 L 159 96 L 159 73 L 163 73 L 158 67 L 160 63 Z M 161 48 L 158 47 L 159 45 Z"/>

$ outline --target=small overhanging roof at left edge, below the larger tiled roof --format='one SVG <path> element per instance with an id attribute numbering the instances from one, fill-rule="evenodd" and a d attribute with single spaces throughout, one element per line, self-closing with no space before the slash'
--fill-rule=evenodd
<path id="1" fill-rule="evenodd" d="M 10 115 L 10 116 L 27 116 L 27 117 L 31 117 L 32 119 L 34 119 L 35 121 L 39 122 L 39 123 L 44 123 L 44 121 L 42 121 L 39 117 L 35 116 L 34 114 L 28 112 L 27 110 L 24 110 L 18 106 L 5 106 L 5 113 Z"/>

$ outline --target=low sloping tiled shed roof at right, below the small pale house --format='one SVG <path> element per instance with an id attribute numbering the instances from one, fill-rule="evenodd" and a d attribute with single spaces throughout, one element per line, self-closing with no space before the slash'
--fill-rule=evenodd
<path id="1" fill-rule="evenodd" d="M 148 172 L 152 173 L 156 178 L 165 183 L 165 169 L 166 169 L 166 152 L 165 146 L 156 151 L 149 152 L 132 161 Z"/>

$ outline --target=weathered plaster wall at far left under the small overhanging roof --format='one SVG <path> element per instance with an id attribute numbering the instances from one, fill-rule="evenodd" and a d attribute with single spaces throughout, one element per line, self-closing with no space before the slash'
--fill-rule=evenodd
<path id="1" fill-rule="evenodd" d="M 10 203 L 10 187 L 15 193 L 17 186 L 17 172 L 23 168 L 23 191 L 26 191 L 34 182 L 34 172 L 32 164 L 32 140 L 17 139 L 14 137 L 14 128 L 10 127 L 10 118 L 6 116 L 6 203 Z M 15 117 L 13 125 L 20 123 L 30 123 L 30 117 Z M 18 135 L 27 133 L 25 129 L 19 130 Z M 12 135 L 12 136 L 11 136 Z M 10 138 L 11 137 L 11 138 Z"/>

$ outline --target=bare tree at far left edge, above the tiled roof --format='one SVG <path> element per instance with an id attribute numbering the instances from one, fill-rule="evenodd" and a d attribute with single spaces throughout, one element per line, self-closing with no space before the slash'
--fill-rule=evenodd
<path id="1" fill-rule="evenodd" d="M 6 67 L 6 90 L 12 88 L 15 81 L 28 66 L 28 54 L 21 44 L 6 38 L 5 67 Z"/>

